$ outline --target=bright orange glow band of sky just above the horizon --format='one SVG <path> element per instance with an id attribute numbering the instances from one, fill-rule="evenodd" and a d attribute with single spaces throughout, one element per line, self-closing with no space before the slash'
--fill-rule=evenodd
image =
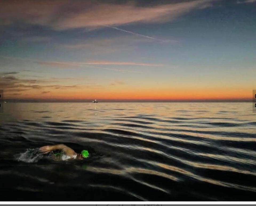
<path id="1" fill-rule="evenodd" d="M 38 99 L 38 100 L 232 100 L 250 99 L 250 88 L 238 89 L 137 89 L 137 90 L 84 90 L 66 89 L 42 91 L 31 90 L 20 95 L 6 94 L 6 99 Z"/>

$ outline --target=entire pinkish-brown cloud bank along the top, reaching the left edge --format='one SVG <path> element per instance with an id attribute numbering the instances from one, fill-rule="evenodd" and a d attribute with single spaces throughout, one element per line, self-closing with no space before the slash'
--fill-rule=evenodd
<path id="1" fill-rule="evenodd" d="M 135 2 L 117 4 L 82 0 L 1 0 L 0 22 L 4 25 L 17 22 L 37 24 L 55 30 L 158 23 L 168 22 L 190 10 L 200 9 L 208 2 L 210 0 L 138 6 Z"/>

